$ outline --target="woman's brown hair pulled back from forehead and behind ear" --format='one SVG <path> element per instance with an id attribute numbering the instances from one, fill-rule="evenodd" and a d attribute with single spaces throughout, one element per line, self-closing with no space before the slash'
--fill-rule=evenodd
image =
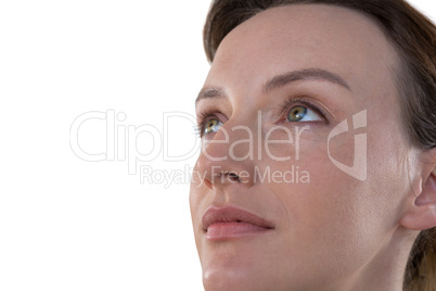
<path id="1" fill-rule="evenodd" d="M 403 0 L 214 0 L 204 27 L 209 62 L 222 39 L 238 25 L 270 8 L 287 4 L 333 4 L 374 20 L 396 49 L 396 69 L 403 128 L 411 146 L 436 147 L 436 27 Z M 405 274 L 403 289 L 436 290 L 436 228 L 418 236 Z"/>

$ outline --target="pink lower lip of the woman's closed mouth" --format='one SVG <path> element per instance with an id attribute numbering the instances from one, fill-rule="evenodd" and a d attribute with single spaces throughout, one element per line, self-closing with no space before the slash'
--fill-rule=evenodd
<path id="1" fill-rule="evenodd" d="M 226 240 L 251 235 L 260 235 L 270 228 L 260 227 L 247 223 L 215 223 L 206 231 L 206 238 L 209 240 Z"/>

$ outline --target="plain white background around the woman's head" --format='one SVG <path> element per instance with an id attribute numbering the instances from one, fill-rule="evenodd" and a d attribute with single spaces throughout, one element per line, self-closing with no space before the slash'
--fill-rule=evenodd
<path id="1" fill-rule="evenodd" d="M 436 18 L 433 0 L 411 2 Z M 0 290 L 203 290 L 189 182 L 159 179 L 189 175 L 195 162 L 166 161 L 165 151 L 182 155 L 197 138 L 188 118 L 164 128 L 163 114 L 194 114 L 208 71 L 208 5 L 0 2 Z M 129 175 L 123 153 L 133 150 L 87 162 L 70 149 L 74 121 L 108 110 L 127 116 L 115 121 L 119 132 L 145 125 L 163 135 L 155 148 L 146 132 L 124 143 L 144 155 L 162 150 L 138 162 L 149 180 Z M 84 151 L 106 150 L 105 121 L 79 129 Z"/>

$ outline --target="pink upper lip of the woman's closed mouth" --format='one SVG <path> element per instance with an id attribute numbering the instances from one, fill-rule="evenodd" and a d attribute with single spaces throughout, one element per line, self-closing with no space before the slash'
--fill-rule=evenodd
<path id="1" fill-rule="evenodd" d="M 252 224 L 268 229 L 274 228 L 270 222 L 260 216 L 234 206 L 209 206 L 203 215 L 202 226 L 204 230 L 207 230 L 211 224 L 231 222 Z"/>

